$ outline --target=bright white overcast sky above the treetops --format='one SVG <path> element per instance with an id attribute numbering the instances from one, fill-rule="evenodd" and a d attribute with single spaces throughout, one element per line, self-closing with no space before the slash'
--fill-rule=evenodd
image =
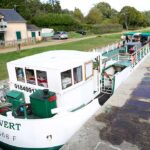
<path id="1" fill-rule="evenodd" d="M 41 0 L 46 2 L 47 0 Z M 150 0 L 59 0 L 62 9 L 74 10 L 79 8 L 84 15 L 99 2 L 107 2 L 110 6 L 118 11 L 124 6 L 135 7 L 139 11 L 150 10 Z"/>

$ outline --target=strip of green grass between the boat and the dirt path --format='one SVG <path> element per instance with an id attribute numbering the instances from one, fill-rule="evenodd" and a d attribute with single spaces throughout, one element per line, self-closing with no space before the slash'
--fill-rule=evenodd
<path id="1" fill-rule="evenodd" d="M 23 50 L 21 52 L 9 52 L 5 54 L 0 54 L 0 80 L 8 78 L 6 63 L 9 61 L 22 58 L 25 56 L 49 51 L 49 50 L 88 51 L 88 50 L 92 50 L 93 48 L 102 47 L 110 43 L 119 41 L 119 39 L 120 39 L 120 34 L 102 35 L 102 36 L 97 36 L 96 38 L 86 39 L 77 42 L 64 43 L 60 45 L 53 45 L 47 47 L 32 48 L 28 50 Z"/>

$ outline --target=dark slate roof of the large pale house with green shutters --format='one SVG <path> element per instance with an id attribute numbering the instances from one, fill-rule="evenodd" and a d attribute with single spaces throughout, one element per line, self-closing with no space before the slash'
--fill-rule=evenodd
<path id="1" fill-rule="evenodd" d="M 26 20 L 14 9 L 0 9 L 0 15 L 4 16 L 4 21 L 6 22 L 26 22 Z"/>

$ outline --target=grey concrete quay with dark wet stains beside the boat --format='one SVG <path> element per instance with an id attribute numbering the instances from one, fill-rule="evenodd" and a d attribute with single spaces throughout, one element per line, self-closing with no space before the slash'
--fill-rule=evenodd
<path id="1" fill-rule="evenodd" d="M 150 55 L 61 150 L 150 150 Z"/>

